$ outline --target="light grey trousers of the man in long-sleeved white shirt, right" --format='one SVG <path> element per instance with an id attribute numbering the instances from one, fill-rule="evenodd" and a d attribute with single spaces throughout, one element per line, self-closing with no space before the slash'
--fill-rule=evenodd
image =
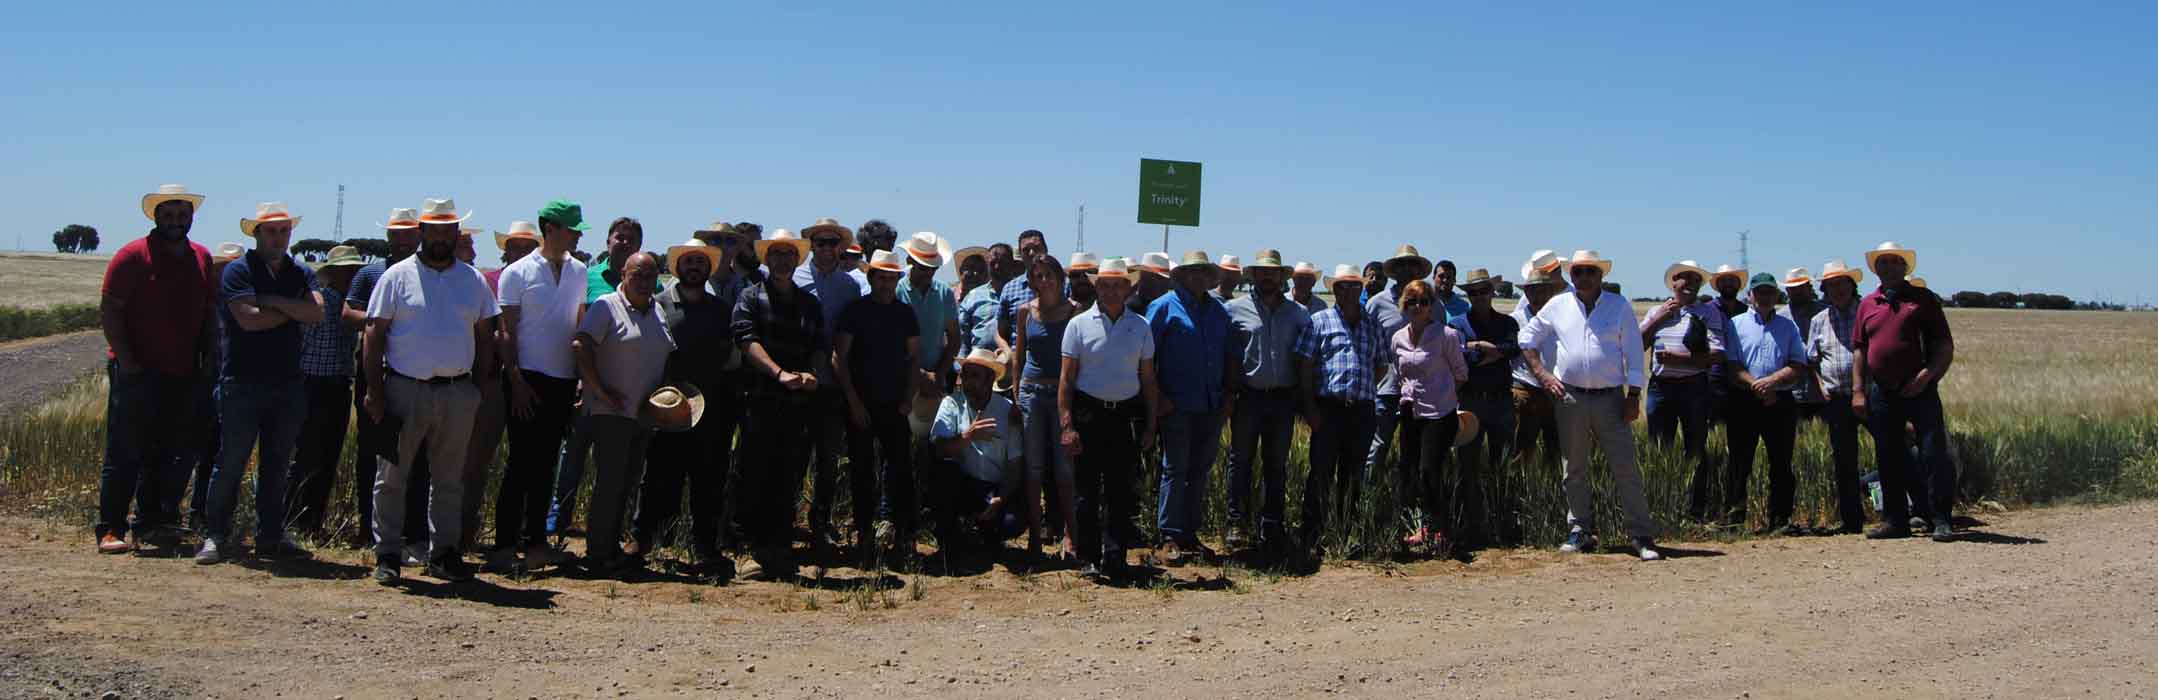
<path id="1" fill-rule="evenodd" d="M 1640 486 L 1640 462 L 1634 460 L 1634 430 L 1625 423 L 1625 391 L 1569 391 L 1556 402 L 1558 452 L 1565 467 L 1567 525 L 1595 531 L 1595 508 L 1588 501 L 1588 439 L 1603 445 L 1612 462 L 1618 506 L 1625 508 L 1625 534 L 1653 538 L 1649 497 Z"/>

